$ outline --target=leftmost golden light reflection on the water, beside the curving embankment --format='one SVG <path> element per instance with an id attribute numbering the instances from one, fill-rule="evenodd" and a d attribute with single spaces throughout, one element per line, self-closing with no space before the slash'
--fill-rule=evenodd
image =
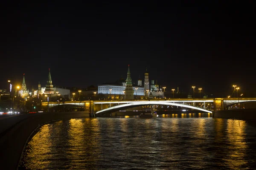
<path id="1" fill-rule="evenodd" d="M 27 145 L 26 155 L 26 167 L 29 169 L 46 169 L 50 162 L 52 154 L 50 148 L 52 147 L 52 125 L 43 125 L 39 132 L 33 136 Z"/>

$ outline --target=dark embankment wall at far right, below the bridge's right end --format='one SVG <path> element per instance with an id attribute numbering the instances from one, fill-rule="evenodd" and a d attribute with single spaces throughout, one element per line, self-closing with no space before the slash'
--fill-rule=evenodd
<path id="1" fill-rule="evenodd" d="M 256 108 L 215 111 L 213 118 L 256 120 Z"/>

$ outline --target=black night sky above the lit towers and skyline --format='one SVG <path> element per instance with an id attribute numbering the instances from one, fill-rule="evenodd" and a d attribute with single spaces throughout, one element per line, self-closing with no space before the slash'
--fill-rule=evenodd
<path id="1" fill-rule="evenodd" d="M 163 2 L 2 4 L 0 88 L 23 73 L 44 87 L 48 68 L 54 85 L 87 88 L 126 79 L 129 64 L 166 91 L 256 96 L 253 1 Z"/>

